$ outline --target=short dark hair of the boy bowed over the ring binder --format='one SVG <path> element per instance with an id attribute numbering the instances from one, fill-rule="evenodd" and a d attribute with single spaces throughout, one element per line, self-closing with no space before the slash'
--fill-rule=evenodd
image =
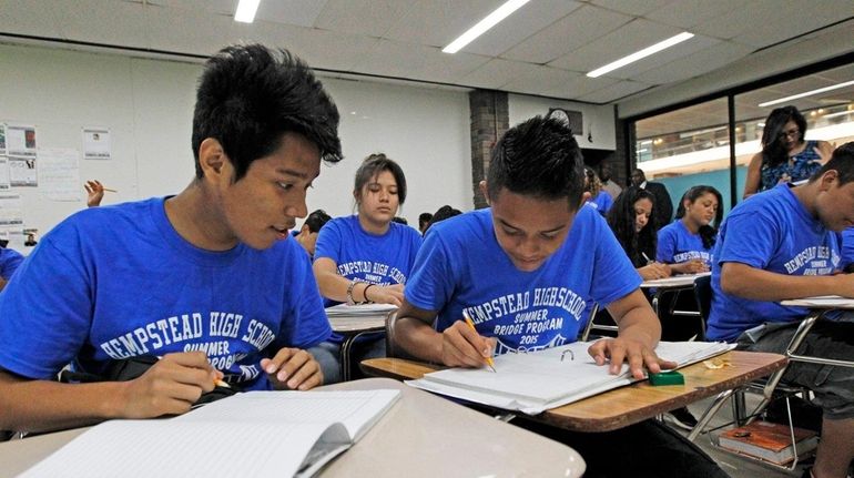
<path id="1" fill-rule="evenodd" d="M 584 170 L 572 131 L 556 119 L 535 116 L 509 129 L 492 149 L 487 173 L 490 199 L 502 187 L 541 200 L 581 202 Z"/>

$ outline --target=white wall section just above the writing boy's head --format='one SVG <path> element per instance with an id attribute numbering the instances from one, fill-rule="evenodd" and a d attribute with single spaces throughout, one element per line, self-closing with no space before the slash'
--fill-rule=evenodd
<path id="1" fill-rule="evenodd" d="M 573 134 L 579 146 L 611 151 L 617 149 L 613 106 L 611 105 L 575 103 L 539 96 L 510 94 L 508 96 L 510 126 L 538 114 L 546 115 L 549 112 L 549 108 L 563 108 L 569 111 L 581 112 L 584 123 L 583 134 Z M 587 136 L 591 131 L 593 141 L 588 141 Z M 576 132 L 573 131 L 573 133 Z"/>

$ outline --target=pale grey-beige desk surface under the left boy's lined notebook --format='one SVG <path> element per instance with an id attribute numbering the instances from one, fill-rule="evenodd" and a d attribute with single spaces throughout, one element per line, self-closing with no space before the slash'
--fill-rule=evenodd
<path id="1" fill-rule="evenodd" d="M 395 380 L 369 378 L 325 388 L 403 390 L 374 428 L 323 470 L 325 478 L 580 477 L 584 470 L 581 457 L 567 446 Z M 22 472 L 84 430 L 0 444 L 0 477 Z"/>

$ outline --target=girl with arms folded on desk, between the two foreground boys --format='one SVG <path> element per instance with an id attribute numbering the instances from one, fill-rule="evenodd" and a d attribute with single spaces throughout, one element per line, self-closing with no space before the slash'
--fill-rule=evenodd
<path id="1" fill-rule="evenodd" d="M 393 222 L 406 201 L 406 176 L 385 154 L 372 154 L 356 171 L 353 196 L 358 214 L 336 217 L 321 230 L 314 275 L 325 305 L 373 302 L 400 305 L 421 236 L 414 227 Z M 327 384 L 340 382 L 340 344 L 333 334 L 312 349 Z M 354 347 L 354 363 L 385 357 L 382 334 L 365 337 Z"/>

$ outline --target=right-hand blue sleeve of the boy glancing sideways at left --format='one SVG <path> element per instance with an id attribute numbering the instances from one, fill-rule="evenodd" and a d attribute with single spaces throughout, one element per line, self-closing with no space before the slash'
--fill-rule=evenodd
<path id="1" fill-rule="evenodd" d="M 291 274 L 293 289 L 285 295 L 293 302 L 289 316 L 283 317 L 282 333 L 276 345 L 279 348 L 308 348 L 329 338 L 332 327 L 323 308 L 323 298 L 312 273 L 308 255 L 299 250 L 296 253 L 292 252 L 289 260 L 286 267 L 293 268 Z"/>

